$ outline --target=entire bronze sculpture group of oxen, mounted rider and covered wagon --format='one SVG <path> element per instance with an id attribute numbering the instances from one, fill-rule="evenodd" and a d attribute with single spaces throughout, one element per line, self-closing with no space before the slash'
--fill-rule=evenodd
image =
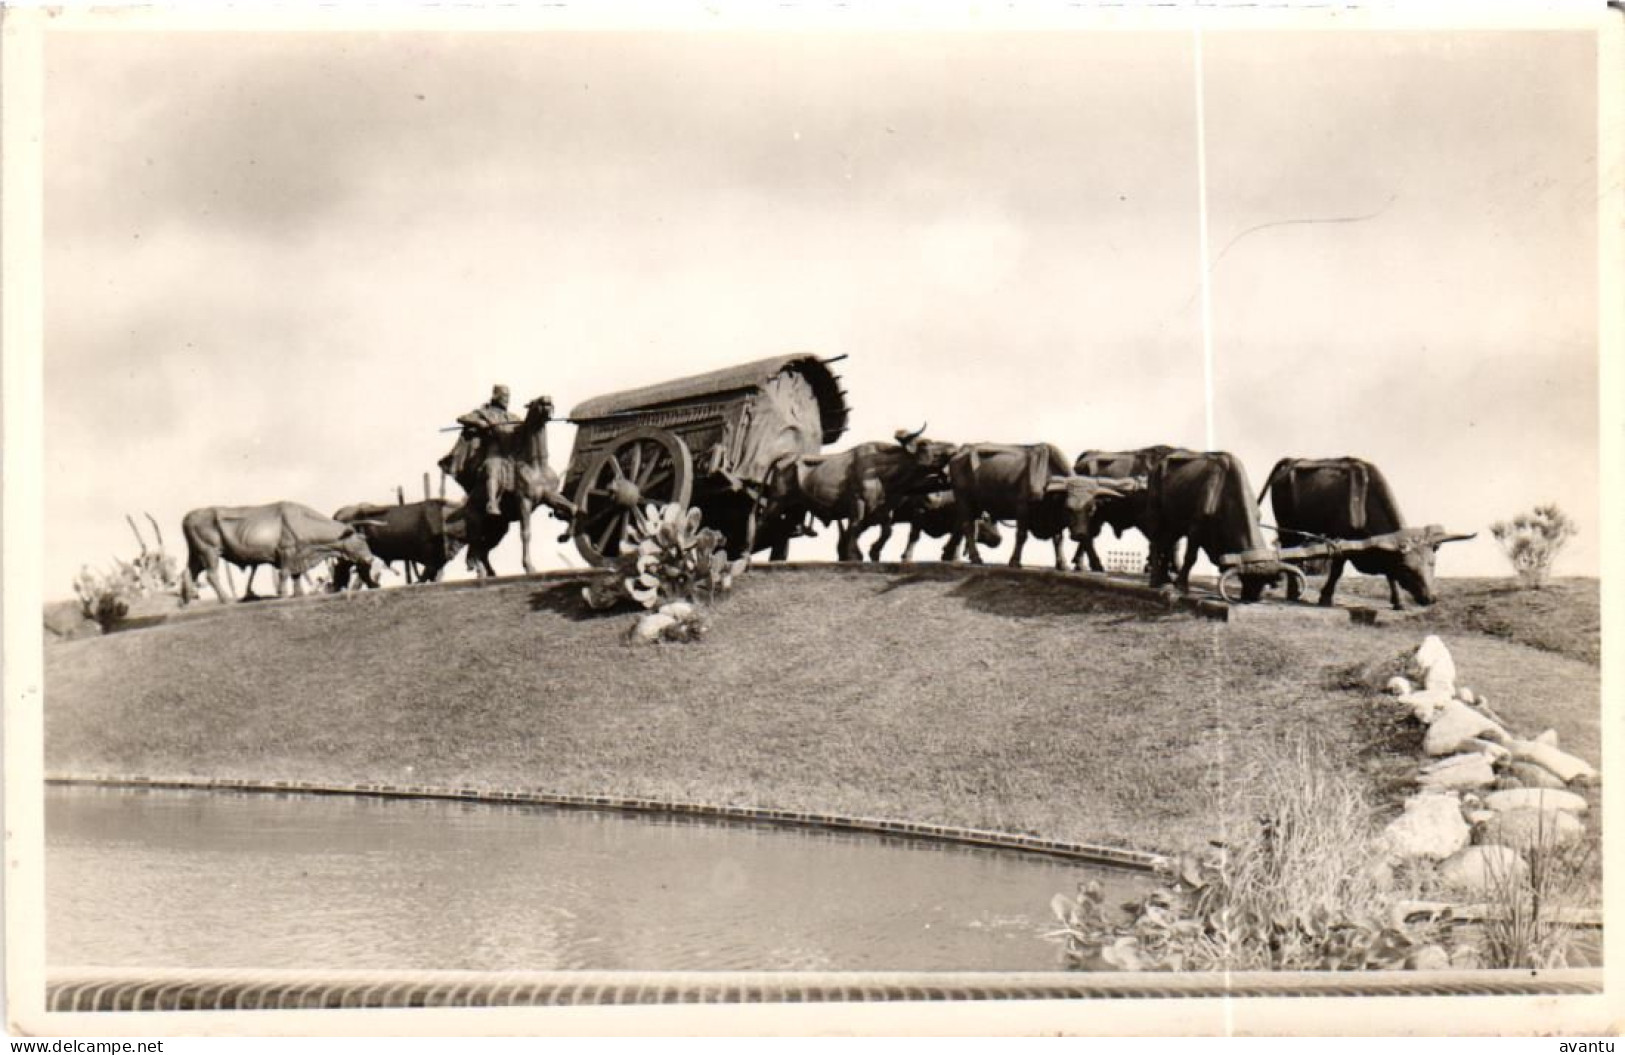
<path id="1" fill-rule="evenodd" d="M 778 356 L 588 400 L 569 416 L 577 439 L 562 480 L 548 454 L 552 402 L 538 397 L 520 416 L 509 410 L 509 389 L 497 385 L 488 403 L 457 419 L 458 439 L 439 462 L 463 489 L 463 504 L 426 497 L 344 507 L 332 519 L 289 502 L 193 510 L 184 523 L 184 601 L 203 575 L 226 600 L 216 574 L 221 559 L 271 564 L 278 592 L 291 580 L 296 593 L 299 574 L 314 561 L 333 558 L 340 587 L 351 569 L 375 585 L 375 561 L 393 559 L 421 564 L 432 580 L 463 545 L 470 569 L 494 575 L 491 551 L 512 523 L 530 574 L 536 509 L 569 523 L 564 538 L 574 536 L 590 562 L 608 564 L 630 510 L 665 502 L 700 509 L 734 558 L 767 549 L 783 559 L 790 540 L 811 535 L 817 522 L 837 525 L 842 561 L 861 561 L 858 538 L 879 528 L 869 548 L 869 559 L 879 559 L 894 525 L 905 523 L 905 561 L 918 536 L 931 533 L 946 538 L 944 561 L 964 545 L 980 564 L 980 546 L 998 545 L 998 525 L 1009 523 L 1012 566 L 1034 536 L 1051 541 L 1055 567 L 1066 569 L 1063 546 L 1071 536 L 1071 567 L 1082 571 L 1087 559 L 1100 572 L 1094 548 L 1100 528 L 1110 525 L 1118 535 L 1133 528 L 1150 543 L 1152 587 L 1172 580 L 1188 590 L 1196 556 L 1206 553 L 1222 569 L 1220 592 L 1228 597 L 1228 585 L 1238 584 L 1248 601 L 1282 582 L 1297 598 L 1305 577 L 1294 554 L 1308 551 L 1292 546 L 1315 543 L 1316 556 L 1331 561 L 1321 605 L 1332 603 L 1346 562 L 1386 575 L 1396 608 L 1401 587 L 1419 603 L 1433 603 L 1438 546 L 1471 538 L 1436 525 L 1407 528 L 1381 473 L 1358 458 L 1284 458 L 1254 497 L 1233 455 L 1167 445 L 1087 450 L 1068 460 L 1051 444 L 949 444 L 928 439 L 921 426 L 899 431 L 892 442 L 824 454 L 822 445 L 847 428 L 845 393 L 830 363 Z M 1277 546 L 1268 545 L 1259 514 L 1271 491 Z"/>

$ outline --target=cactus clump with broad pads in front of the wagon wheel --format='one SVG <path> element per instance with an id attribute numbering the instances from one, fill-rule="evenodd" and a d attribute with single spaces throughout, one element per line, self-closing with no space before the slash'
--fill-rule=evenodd
<path id="1" fill-rule="evenodd" d="M 730 562 L 722 532 L 700 527 L 700 510 L 681 506 L 634 509 L 616 567 L 582 590 L 593 608 L 632 600 L 644 608 L 673 601 L 710 606 L 733 588 L 744 559 Z"/>

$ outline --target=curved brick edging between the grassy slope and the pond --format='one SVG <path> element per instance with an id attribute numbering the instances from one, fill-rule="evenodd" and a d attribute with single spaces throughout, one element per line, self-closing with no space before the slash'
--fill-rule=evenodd
<path id="1" fill-rule="evenodd" d="M 860 818 L 842 813 L 817 813 L 811 810 L 778 810 L 772 806 L 712 806 L 707 803 L 670 801 L 661 798 L 642 798 L 627 795 L 567 795 L 540 788 L 499 790 L 499 788 L 450 788 L 432 785 L 401 784 L 333 784 L 322 780 L 245 780 L 237 777 L 132 777 L 107 774 L 47 774 L 47 785 L 80 785 L 80 787 L 127 787 L 127 788 L 161 788 L 161 790 L 195 790 L 195 792 L 260 792 L 260 793 L 301 793 L 301 795 L 359 795 L 370 798 L 432 798 L 448 801 L 479 801 L 504 806 L 556 806 L 564 810 L 614 810 L 622 813 L 658 813 L 671 816 L 704 818 L 715 821 L 744 821 L 754 824 L 774 824 L 782 827 L 817 827 L 832 831 L 871 832 L 878 836 L 894 836 L 904 839 L 923 839 L 933 842 L 952 842 L 960 845 L 988 847 L 996 850 L 1016 850 L 1024 853 L 1042 853 L 1064 860 L 1103 865 L 1108 868 L 1124 868 L 1150 873 L 1164 866 L 1170 858 L 1144 850 L 1128 850 L 1089 842 L 1068 842 L 1063 839 L 1043 839 L 1040 836 L 1024 836 L 1019 832 L 999 832 L 977 827 L 956 827 L 951 824 L 921 824 L 916 821 L 899 821 L 892 818 Z"/>

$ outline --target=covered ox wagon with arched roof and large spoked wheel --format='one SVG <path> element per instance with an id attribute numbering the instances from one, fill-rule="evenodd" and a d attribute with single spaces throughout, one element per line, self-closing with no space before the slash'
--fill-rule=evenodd
<path id="1" fill-rule="evenodd" d="M 845 392 L 829 369 L 838 358 L 774 356 L 575 406 L 564 476 L 575 548 L 613 562 L 634 507 L 676 502 L 697 507 L 733 556 L 782 554 L 801 519 L 762 506 L 769 468 L 847 431 Z"/>

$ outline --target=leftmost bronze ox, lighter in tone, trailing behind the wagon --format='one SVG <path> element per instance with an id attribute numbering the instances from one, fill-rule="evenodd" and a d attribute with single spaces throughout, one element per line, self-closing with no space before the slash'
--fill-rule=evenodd
<path id="1" fill-rule="evenodd" d="M 294 595 L 302 597 L 301 577 L 328 558 L 349 561 L 367 585 L 377 585 L 372 549 L 358 527 L 323 517 L 299 502 L 193 509 L 182 517 L 180 535 L 187 540 L 187 571 L 180 577 L 182 605 L 197 598 L 198 579 L 205 572 L 219 601 L 226 603 L 226 587 L 219 580 L 221 558 L 237 567 L 275 567 L 278 597 L 289 579 Z"/>

